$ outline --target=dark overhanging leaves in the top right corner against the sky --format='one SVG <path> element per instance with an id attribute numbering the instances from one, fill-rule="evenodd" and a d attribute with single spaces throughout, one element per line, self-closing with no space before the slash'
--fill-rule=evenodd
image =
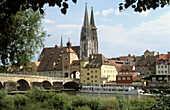
<path id="1" fill-rule="evenodd" d="M 165 7 L 169 5 L 169 0 L 125 0 L 119 4 L 119 10 L 124 10 L 129 7 L 133 8 L 135 12 L 142 12 L 150 9 L 156 9 L 158 7 Z"/>

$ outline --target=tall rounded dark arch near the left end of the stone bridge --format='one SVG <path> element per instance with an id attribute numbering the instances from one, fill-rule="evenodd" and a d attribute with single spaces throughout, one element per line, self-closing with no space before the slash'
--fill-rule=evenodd
<path id="1" fill-rule="evenodd" d="M 17 83 L 18 83 L 17 89 L 19 91 L 30 90 L 30 85 L 29 85 L 29 83 L 25 79 L 20 79 L 20 80 L 17 81 Z"/>

